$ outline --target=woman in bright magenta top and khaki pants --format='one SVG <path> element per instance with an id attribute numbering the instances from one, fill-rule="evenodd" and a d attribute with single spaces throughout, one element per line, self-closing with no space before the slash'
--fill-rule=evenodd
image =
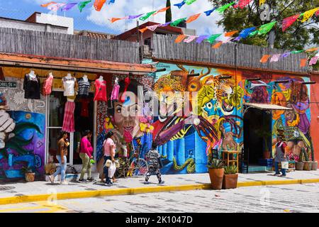
<path id="1" fill-rule="evenodd" d="M 91 136 L 92 133 L 91 131 L 87 130 L 84 132 L 84 136 L 81 140 L 80 144 L 80 151 L 79 151 L 79 156 L 82 159 L 82 171 L 81 171 L 81 176 L 79 178 L 79 182 L 86 182 L 84 179 L 84 175 L 87 172 L 87 180 L 93 181 L 93 178 L 91 177 L 91 162 L 90 160 L 93 159 L 93 148 L 91 145 Z"/>

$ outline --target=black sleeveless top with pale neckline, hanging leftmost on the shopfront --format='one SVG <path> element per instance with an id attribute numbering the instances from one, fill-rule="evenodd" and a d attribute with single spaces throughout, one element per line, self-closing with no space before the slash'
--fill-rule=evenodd
<path id="1" fill-rule="evenodd" d="M 31 77 L 30 74 L 26 74 L 23 89 L 25 99 L 40 99 L 40 78 L 38 75 Z"/>

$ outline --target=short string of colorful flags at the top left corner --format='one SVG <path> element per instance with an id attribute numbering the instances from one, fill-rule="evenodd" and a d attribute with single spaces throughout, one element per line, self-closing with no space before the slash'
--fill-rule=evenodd
<path id="1" fill-rule="evenodd" d="M 104 4 L 106 4 L 106 0 L 89 0 L 89 1 L 80 1 L 79 3 L 57 3 L 55 1 L 50 1 L 47 4 L 41 4 L 40 6 L 47 8 L 50 11 L 58 11 L 61 9 L 61 11 L 69 11 L 70 9 L 73 9 L 74 6 L 78 6 L 78 9 L 80 12 L 83 11 L 83 9 L 90 4 L 92 1 L 94 1 L 94 9 L 96 11 L 101 11 Z M 115 0 L 108 0 L 108 4 L 114 4 Z"/>

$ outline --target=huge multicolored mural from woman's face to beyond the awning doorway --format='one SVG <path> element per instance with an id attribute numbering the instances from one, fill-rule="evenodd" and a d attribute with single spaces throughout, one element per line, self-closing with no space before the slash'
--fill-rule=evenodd
<path id="1" fill-rule="evenodd" d="M 162 62 L 156 66 L 165 70 L 131 78 L 127 91 L 135 94 L 135 101 L 126 97 L 124 103 L 108 103 L 103 133 L 98 138 L 99 157 L 103 156 L 101 146 L 106 132 L 113 131 L 120 157 L 123 151 L 131 157 L 133 150 L 140 147 L 140 157 L 144 158 L 155 142 L 164 164 L 162 173 L 207 172 L 206 165 L 214 149 L 221 156 L 222 150 L 243 148 L 245 103 L 291 108 L 291 111 L 272 111 L 273 145 L 276 136 L 282 135 L 289 145 L 291 159 L 298 160 L 301 154 L 303 160 L 313 157 L 309 87 L 301 84 L 308 82 L 307 77 Z M 256 77 L 262 79 L 248 80 Z M 121 97 L 125 77 L 119 78 Z M 288 82 L 276 83 L 278 80 Z M 142 91 L 138 86 L 143 87 Z M 140 100 L 143 96 L 147 99 Z"/>

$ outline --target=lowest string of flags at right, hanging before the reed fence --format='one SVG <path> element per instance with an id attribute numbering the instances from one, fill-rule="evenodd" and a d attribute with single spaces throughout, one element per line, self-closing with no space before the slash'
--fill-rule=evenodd
<path id="1" fill-rule="evenodd" d="M 268 62 L 269 59 L 270 59 L 269 62 L 278 62 L 279 60 L 285 57 L 288 57 L 289 55 L 292 55 L 292 54 L 298 54 L 301 52 L 314 52 L 317 50 L 319 50 L 319 48 L 309 48 L 307 50 L 293 50 L 293 51 L 285 52 L 284 54 L 263 55 L 262 58 L 259 60 L 259 62 L 266 63 Z M 319 56 L 312 57 L 309 61 L 309 65 L 315 65 L 318 59 L 319 59 Z M 300 67 L 306 67 L 307 62 L 308 62 L 308 58 L 301 59 Z"/>

